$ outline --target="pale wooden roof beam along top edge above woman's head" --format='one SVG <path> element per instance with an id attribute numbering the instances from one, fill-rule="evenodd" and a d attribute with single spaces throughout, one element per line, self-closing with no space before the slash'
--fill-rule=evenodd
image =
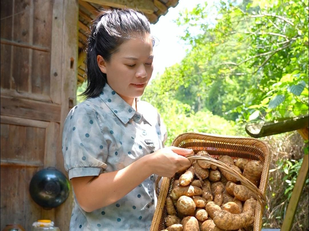
<path id="1" fill-rule="evenodd" d="M 85 0 L 85 2 L 106 5 L 114 8 L 138 9 L 147 14 L 153 13 L 155 9 L 155 4 L 151 0 Z"/>

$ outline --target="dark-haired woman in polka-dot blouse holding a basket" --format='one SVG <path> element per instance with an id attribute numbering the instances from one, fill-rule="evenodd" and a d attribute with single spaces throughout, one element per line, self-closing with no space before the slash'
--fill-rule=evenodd
<path id="1" fill-rule="evenodd" d="M 154 39 L 134 10 L 101 12 L 87 49 L 86 101 L 68 114 L 65 168 L 75 207 L 70 230 L 149 230 L 155 175 L 190 166 L 193 150 L 164 148 L 167 131 L 156 109 L 138 101 L 150 80 Z"/>

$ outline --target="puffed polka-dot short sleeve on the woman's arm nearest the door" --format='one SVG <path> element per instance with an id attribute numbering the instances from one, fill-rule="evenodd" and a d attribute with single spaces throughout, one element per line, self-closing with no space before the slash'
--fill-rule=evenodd
<path id="1" fill-rule="evenodd" d="M 63 128 L 62 153 L 69 179 L 99 175 L 107 165 L 108 145 L 98 113 L 89 105 L 75 106 Z"/>

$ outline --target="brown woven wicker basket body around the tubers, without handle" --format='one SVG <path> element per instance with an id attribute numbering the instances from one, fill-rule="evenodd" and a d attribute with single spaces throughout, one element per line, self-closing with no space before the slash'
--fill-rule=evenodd
<path id="1" fill-rule="evenodd" d="M 259 191 L 265 195 L 270 155 L 269 149 L 264 142 L 255 138 L 221 136 L 205 133 L 184 133 L 174 139 L 172 146 L 193 149 L 195 154 L 200 150 L 206 150 L 215 159 L 218 159 L 219 155 L 228 155 L 232 158 L 260 160 L 263 163 L 263 171 Z M 150 231 L 160 231 L 164 229 L 164 218 L 167 216 L 165 200 L 171 192 L 173 181 L 174 178 L 167 177 L 164 177 L 162 180 Z M 257 203 L 254 217 L 254 231 L 262 229 L 263 210 L 264 207 Z"/>

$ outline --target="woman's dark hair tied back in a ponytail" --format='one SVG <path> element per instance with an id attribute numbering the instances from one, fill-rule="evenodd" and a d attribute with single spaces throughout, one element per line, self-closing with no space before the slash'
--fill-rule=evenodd
<path id="1" fill-rule="evenodd" d="M 87 47 L 87 88 L 81 94 L 86 98 L 99 96 L 107 79 L 97 64 L 97 56 L 109 61 L 126 39 L 137 34 L 150 34 L 150 23 L 141 13 L 131 9 L 103 10 L 95 19 Z"/>

